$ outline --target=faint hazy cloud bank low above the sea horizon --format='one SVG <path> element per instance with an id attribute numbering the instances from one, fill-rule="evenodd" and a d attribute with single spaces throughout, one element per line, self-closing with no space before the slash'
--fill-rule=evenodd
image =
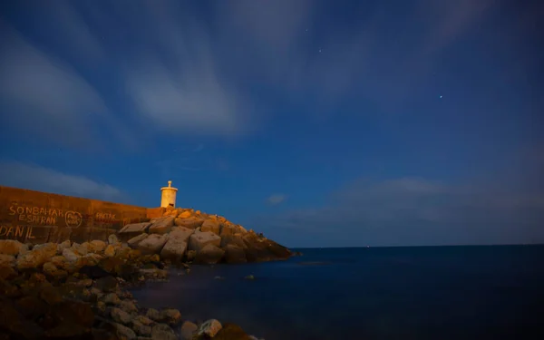
<path id="1" fill-rule="evenodd" d="M 542 243 L 544 191 L 403 178 L 357 180 L 325 206 L 260 217 L 298 246 Z"/>

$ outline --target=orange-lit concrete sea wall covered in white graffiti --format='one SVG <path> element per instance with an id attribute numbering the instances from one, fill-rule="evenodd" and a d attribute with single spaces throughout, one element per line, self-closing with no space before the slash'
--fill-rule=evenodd
<path id="1" fill-rule="evenodd" d="M 0 239 L 83 243 L 147 220 L 147 208 L 0 186 Z"/>

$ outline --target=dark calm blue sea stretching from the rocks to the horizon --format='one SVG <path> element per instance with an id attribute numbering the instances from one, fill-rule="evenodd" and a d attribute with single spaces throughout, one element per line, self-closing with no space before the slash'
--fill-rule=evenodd
<path id="1" fill-rule="evenodd" d="M 299 250 L 285 262 L 172 271 L 133 293 L 141 306 L 267 340 L 544 339 L 544 246 Z"/>

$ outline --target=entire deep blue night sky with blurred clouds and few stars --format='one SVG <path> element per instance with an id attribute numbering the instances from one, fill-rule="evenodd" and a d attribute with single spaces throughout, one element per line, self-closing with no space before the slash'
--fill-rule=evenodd
<path id="1" fill-rule="evenodd" d="M 544 242 L 539 1 L 0 5 L 0 184 L 289 247 Z"/>

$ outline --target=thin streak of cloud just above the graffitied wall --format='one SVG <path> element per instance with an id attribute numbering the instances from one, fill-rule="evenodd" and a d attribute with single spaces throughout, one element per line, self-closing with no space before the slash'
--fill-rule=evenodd
<path id="1" fill-rule="evenodd" d="M 111 185 L 34 164 L 2 162 L 0 179 L 2 185 L 16 188 L 115 202 L 126 200 L 121 190 Z"/>

